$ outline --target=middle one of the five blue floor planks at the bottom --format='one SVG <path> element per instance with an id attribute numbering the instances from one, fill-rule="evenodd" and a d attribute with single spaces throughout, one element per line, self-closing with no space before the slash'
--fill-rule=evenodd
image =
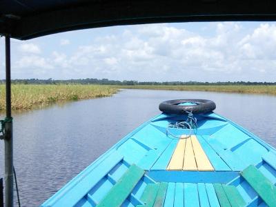
<path id="1" fill-rule="evenodd" d="M 197 184 L 184 184 L 184 206 L 199 207 Z"/>

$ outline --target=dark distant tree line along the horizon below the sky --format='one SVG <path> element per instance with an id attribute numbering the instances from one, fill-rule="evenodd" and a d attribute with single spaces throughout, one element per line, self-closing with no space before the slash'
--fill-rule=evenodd
<path id="1" fill-rule="evenodd" d="M 5 83 L 1 80 L 0 83 Z M 99 84 L 114 86 L 276 86 L 276 82 L 255 82 L 255 81 L 217 81 L 217 82 L 200 82 L 200 81 L 115 81 L 109 79 L 13 79 L 14 84 Z"/>

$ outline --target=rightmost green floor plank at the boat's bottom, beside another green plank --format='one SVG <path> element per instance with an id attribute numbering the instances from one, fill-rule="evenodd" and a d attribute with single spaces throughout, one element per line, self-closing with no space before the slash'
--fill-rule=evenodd
<path id="1" fill-rule="evenodd" d="M 235 186 L 226 186 L 222 184 L 222 187 L 224 188 L 224 192 L 226 193 L 231 206 L 246 206 L 246 202 L 242 198 L 242 195 L 239 194 L 239 191 L 235 188 Z"/>

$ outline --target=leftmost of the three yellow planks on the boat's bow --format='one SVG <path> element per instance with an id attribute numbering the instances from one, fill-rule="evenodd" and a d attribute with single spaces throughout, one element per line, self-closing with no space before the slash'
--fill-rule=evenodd
<path id="1" fill-rule="evenodd" d="M 185 137 L 185 135 L 182 135 L 181 137 Z M 173 152 L 172 157 L 170 158 L 167 170 L 182 170 L 185 145 L 186 139 L 179 139 L 175 152 Z"/>

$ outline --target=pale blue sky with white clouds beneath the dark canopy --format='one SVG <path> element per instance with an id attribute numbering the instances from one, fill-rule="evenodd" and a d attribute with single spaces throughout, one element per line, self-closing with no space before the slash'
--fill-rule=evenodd
<path id="1" fill-rule="evenodd" d="M 275 22 L 113 26 L 11 40 L 12 79 L 276 81 Z M 4 78 L 0 38 L 0 79 Z"/>

